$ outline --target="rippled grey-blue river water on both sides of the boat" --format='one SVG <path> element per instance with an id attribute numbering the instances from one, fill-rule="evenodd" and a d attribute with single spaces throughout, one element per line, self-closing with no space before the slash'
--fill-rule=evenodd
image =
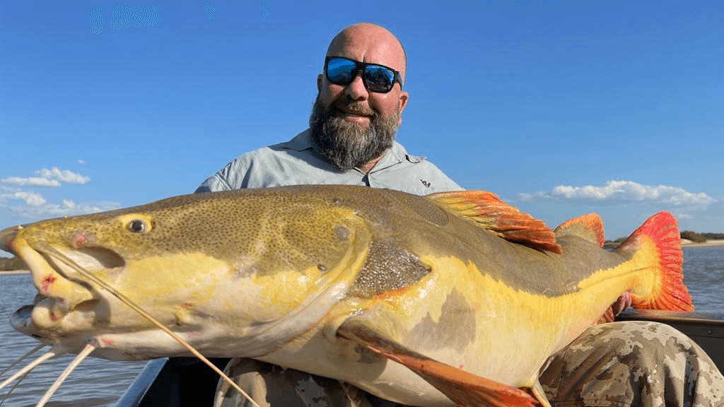
<path id="1" fill-rule="evenodd" d="M 724 313 L 724 246 L 684 247 L 684 281 L 696 311 Z M 0 274 L 0 372 L 37 342 L 16 332 L 8 321 L 20 306 L 30 303 L 35 288 L 30 274 Z M 46 389 L 70 363 L 72 356 L 51 359 L 30 372 L 4 407 L 35 406 Z M 53 395 L 49 407 L 114 406 L 146 362 L 87 358 Z M 14 372 L 14 370 L 13 370 Z M 5 375 L 3 379 L 7 377 Z M 0 400 L 7 389 L 0 390 Z"/>

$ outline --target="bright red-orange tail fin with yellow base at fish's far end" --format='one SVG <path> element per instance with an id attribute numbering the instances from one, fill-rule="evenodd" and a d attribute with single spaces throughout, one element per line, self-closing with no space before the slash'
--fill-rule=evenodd
<path id="1" fill-rule="evenodd" d="M 659 212 L 650 217 L 615 252 L 640 261 L 650 271 L 631 292 L 634 308 L 694 311 L 683 283 L 681 235 L 672 214 Z"/>

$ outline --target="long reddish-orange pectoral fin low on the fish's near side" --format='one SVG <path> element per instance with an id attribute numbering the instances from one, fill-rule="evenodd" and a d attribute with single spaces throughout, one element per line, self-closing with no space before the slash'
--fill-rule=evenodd
<path id="1" fill-rule="evenodd" d="M 337 336 L 351 340 L 384 356 L 425 379 L 458 406 L 536 406 L 536 399 L 526 391 L 479 377 L 463 369 L 435 361 L 387 339 L 365 324 L 348 320 L 337 329 Z"/>

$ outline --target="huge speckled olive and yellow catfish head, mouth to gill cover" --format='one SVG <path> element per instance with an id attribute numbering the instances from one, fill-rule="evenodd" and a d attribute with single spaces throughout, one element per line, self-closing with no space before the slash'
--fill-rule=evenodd
<path id="1" fill-rule="evenodd" d="M 274 351 L 344 295 L 369 240 L 353 209 L 295 188 L 177 196 L 0 231 L 0 248 L 25 261 L 38 290 L 13 326 L 63 351 L 93 342 L 93 356 L 125 360 L 188 354 L 130 304 L 207 356 Z"/>

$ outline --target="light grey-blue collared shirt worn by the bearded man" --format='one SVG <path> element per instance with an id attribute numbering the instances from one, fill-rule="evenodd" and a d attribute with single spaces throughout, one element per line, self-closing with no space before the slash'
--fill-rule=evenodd
<path id="1" fill-rule="evenodd" d="M 397 141 L 369 173 L 356 168 L 342 171 L 312 148 L 307 129 L 286 143 L 238 156 L 195 192 L 300 184 L 367 185 L 416 195 L 463 189 L 424 156 L 408 154 Z"/>

